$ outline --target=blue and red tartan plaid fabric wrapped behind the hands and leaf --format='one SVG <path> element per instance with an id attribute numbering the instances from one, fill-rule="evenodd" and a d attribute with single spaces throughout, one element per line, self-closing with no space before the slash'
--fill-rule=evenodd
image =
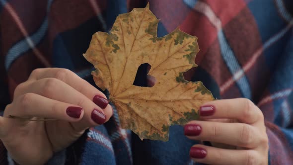
<path id="1" fill-rule="evenodd" d="M 246 97 L 264 113 L 270 165 L 293 164 L 293 1 L 148 0 L 161 19 L 158 36 L 176 27 L 197 36 L 199 65 L 185 78 L 217 98 Z M 91 36 L 147 0 L 0 0 L 0 107 L 32 70 L 67 68 L 94 84 L 82 57 Z M 168 142 L 141 141 L 121 129 L 116 110 L 48 164 L 191 165 L 196 142 L 170 128 Z M 74 159 L 73 159 L 74 157 Z M 11 159 L 0 144 L 0 164 Z"/>

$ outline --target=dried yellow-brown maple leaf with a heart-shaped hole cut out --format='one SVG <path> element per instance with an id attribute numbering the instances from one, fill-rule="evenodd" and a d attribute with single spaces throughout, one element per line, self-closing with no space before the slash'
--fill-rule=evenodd
<path id="1" fill-rule="evenodd" d="M 197 37 L 176 29 L 158 38 L 157 24 L 148 5 L 120 14 L 109 34 L 93 35 L 84 57 L 96 68 L 95 83 L 108 89 L 122 128 L 141 139 L 167 141 L 170 125 L 197 119 L 199 106 L 214 98 L 201 82 L 183 78 L 196 66 Z M 151 65 L 152 87 L 133 85 L 143 63 Z"/>

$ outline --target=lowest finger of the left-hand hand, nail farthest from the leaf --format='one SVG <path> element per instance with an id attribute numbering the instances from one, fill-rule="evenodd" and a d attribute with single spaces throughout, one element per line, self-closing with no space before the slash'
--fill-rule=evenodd
<path id="1" fill-rule="evenodd" d="M 5 115 L 21 118 L 41 117 L 75 122 L 82 118 L 83 109 L 77 105 L 53 100 L 35 93 L 26 93 L 11 104 Z"/>

